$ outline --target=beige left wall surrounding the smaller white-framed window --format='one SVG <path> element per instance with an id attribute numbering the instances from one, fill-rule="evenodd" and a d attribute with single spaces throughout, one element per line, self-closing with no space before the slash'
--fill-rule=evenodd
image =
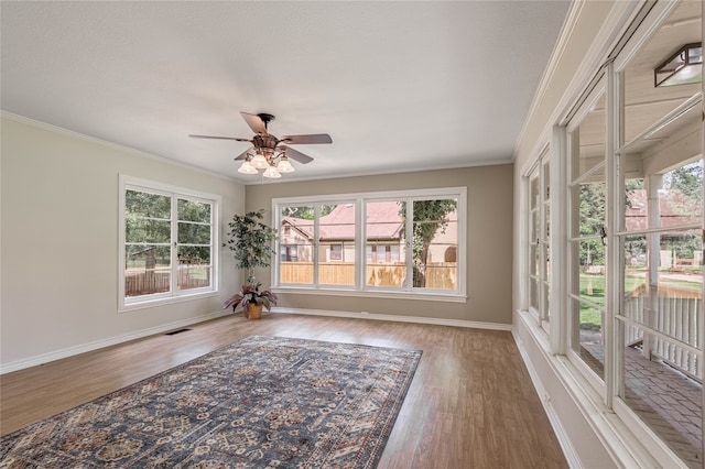
<path id="1" fill-rule="evenodd" d="M 220 313 L 229 291 L 118 313 L 118 175 L 220 195 L 224 218 L 242 210 L 243 186 L 4 114 L 1 131 L 3 367 Z M 221 283 L 239 282 L 226 250 L 220 261 Z"/>

